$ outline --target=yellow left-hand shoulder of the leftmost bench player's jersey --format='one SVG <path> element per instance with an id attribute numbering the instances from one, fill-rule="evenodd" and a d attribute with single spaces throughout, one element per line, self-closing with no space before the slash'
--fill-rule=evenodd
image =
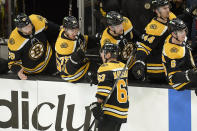
<path id="1" fill-rule="evenodd" d="M 8 48 L 12 51 L 18 51 L 20 50 L 28 41 L 28 39 L 22 37 L 18 31 L 17 28 L 15 28 L 8 40 Z"/>

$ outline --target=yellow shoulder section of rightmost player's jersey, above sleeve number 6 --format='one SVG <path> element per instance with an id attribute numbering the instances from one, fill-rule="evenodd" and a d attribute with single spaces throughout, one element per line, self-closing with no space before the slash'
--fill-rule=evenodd
<path id="1" fill-rule="evenodd" d="M 181 59 L 185 56 L 185 47 L 175 45 L 169 42 L 171 35 L 169 35 L 165 41 L 163 54 L 170 59 Z"/>

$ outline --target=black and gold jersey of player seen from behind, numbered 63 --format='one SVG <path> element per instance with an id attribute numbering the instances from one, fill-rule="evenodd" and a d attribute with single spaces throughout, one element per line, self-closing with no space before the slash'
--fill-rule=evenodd
<path id="1" fill-rule="evenodd" d="M 96 97 L 105 100 L 109 95 L 115 81 L 118 79 L 125 64 L 119 61 L 111 61 L 102 64 L 98 69 L 98 88 Z M 111 119 L 118 123 L 127 121 L 129 101 L 128 101 L 128 70 L 125 70 L 121 79 L 111 94 L 109 100 L 103 105 L 104 119 Z"/>

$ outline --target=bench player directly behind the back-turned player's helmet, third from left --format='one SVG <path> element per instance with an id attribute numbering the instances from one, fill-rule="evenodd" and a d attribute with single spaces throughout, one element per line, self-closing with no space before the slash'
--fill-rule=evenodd
<path id="1" fill-rule="evenodd" d="M 106 42 L 111 42 L 119 45 L 120 55 L 118 60 L 121 62 L 126 62 L 129 55 L 134 51 L 135 42 L 139 39 L 139 34 L 134 31 L 131 21 L 123 17 L 121 14 L 110 11 L 106 15 L 108 27 L 104 30 L 100 43 L 101 48 Z M 133 65 L 134 58 L 129 63 L 129 69 Z"/>

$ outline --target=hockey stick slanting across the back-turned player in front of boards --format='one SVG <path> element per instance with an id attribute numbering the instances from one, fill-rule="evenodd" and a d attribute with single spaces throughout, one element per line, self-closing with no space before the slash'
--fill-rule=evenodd
<path id="1" fill-rule="evenodd" d="M 114 85 L 113 85 L 112 90 L 109 92 L 109 95 L 107 96 L 107 98 L 106 98 L 105 101 L 103 102 L 103 106 L 108 102 L 109 98 L 111 97 L 111 95 L 112 95 L 114 89 L 116 88 L 116 84 L 117 84 L 118 81 L 121 79 L 121 76 L 122 76 L 123 72 L 126 71 L 126 70 L 128 69 L 127 66 L 129 65 L 129 62 L 131 61 L 131 58 L 132 58 L 134 52 L 135 52 L 135 51 L 131 52 L 131 55 L 129 56 L 129 59 L 127 60 L 127 63 L 125 64 L 124 68 L 121 70 L 120 75 L 119 75 L 118 78 L 116 79 L 116 81 L 115 81 L 115 83 L 114 83 Z M 92 121 L 92 123 L 90 124 L 90 127 L 88 128 L 88 131 L 91 131 L 91 128 L 92 128 L 92 126 L 93 126 L 94 123 L 95 123 L 95 120 L 96 120 L 96 119 L 94 119 L 94 120 Z"/>

